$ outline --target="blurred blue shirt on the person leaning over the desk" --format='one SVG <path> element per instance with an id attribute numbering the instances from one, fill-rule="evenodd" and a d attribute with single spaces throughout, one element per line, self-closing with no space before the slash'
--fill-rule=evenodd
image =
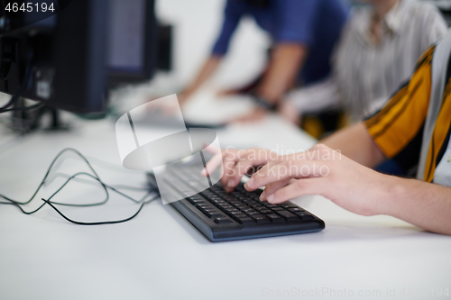
<path id="1" fill-rule="evenodd" d="M 308 84 L 327 77 L 330 55 L 346 22 L 348 7 L 341 0 L 270 0 L 264 8 L 244 0 L 227 0 L 213 54 L 226 54 L 240 19 L 246 15 L 269 32 L 274 43 L 295 42 L 308 47 L 308 57 L 299 72 L 299 79 Z"/>

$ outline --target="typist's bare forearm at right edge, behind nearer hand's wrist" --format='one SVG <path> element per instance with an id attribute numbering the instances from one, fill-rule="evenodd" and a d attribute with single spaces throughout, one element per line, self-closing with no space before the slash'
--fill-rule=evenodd
<path id="1" fill-rule="evenodd" d="M 412 223 L 429 232 L 451 234 L 451 188 L 417 179 L 390 177 L 380 199 L 381 214 Z"/>

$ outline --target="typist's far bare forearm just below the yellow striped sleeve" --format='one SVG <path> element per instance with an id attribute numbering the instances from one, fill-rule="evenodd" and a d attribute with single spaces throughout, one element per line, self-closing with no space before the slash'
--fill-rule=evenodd
<path id="1" fill-rule="evenodd" d="M 382 151 L 366 131 L 364 123 L 346 127 L 319 142 L 331 149 L 340 150 L 345 157 L 365 167 L 373 168 L 385 159 Z"/>

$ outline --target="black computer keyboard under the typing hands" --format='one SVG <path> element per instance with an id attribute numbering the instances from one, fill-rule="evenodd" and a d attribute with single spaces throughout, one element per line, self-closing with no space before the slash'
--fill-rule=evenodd
<path id="1" fill-rule="evenodd" d="M 272 205 L 260 201 L 262 190 L 248 192 L 240 184 L 226 193 L 221 182 L 197 195 L 190 186 L 196 179 L 189 167 L 177 168 L 166 175 L 164 184 L 174 194 L 190 195 L 170 203 L 210 241 L 233 241 L 287 234 L 319 232 L 325 223 L 316 215 L 291 202 Z M 198 171 L 197 171 L 198 172 Z M 148 174 L 151 186 L 156 186 Z M 179 197 L 180 198 L 180 197 Z"/>

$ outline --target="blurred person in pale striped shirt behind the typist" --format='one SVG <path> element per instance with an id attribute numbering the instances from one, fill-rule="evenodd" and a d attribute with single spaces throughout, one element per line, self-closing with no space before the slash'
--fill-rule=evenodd
<path id="1" fill-rule="evenodd" d="M 380 108 L 415 69 L 417 59 L 445 33 L 433 5 L 414 0 L 361 0 L 332 61 L 331 75 L 290 92 L 281 114 L 300 123 L 301 114 L 344 109 L 354 123 Z"/>

